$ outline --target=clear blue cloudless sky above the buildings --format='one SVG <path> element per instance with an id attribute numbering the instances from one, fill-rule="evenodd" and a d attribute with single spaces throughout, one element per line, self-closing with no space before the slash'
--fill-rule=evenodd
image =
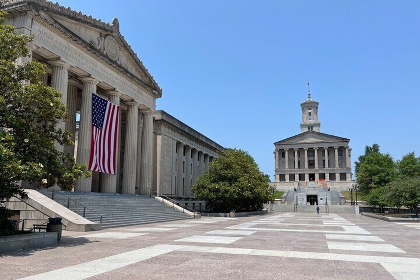
<path id="1" fill-rule="evenodd" d="M 419 0 L 59 0 L 111 22 L 149 69 L 162 109 L 274 173 L 300 132 L 306 81 L 321 132 L 420 155 Z"/>

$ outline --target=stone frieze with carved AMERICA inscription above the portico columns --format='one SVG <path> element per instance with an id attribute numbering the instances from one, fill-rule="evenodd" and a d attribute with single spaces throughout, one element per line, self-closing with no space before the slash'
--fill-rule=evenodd
<path id="1" fill-rule="evenodd" d="M 139 87 L 121 77 L 116 71 L 106 67 L 94 58 L 83 53 L 66 40 L 60 38 L 56 34 L 53 34 L 51 30 L 41 26 L 38 22 L 34 22 L 32 26 L 32 34 L 35 35 L 33 42 L 38 47 L 43 47 L 49 50 L 55 55 L 68 61 L 71 65 L 77 66 L 90 73 L 93 77 L 99 79 L 100 81 L 106 82 L 117 91 L 131 96 L 136 101 L 139 101 L 151 109 L 154 108 L 154 100 L 152 96 L 142 92 Z M 115 54 L 115 50 L 112 49 L 112 43 L 110 43 L 108 50 L 110 53 Z"/>

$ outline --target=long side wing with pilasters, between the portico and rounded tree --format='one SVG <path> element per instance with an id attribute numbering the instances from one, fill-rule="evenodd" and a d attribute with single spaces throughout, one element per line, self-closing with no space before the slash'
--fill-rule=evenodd
<path id="1" fill-rule="evenodd" d="M 167 112 L 157 111 L 154 124 L 153 189 L 166 196 L 192 197 L 191 187 L 224 148 Z"/>

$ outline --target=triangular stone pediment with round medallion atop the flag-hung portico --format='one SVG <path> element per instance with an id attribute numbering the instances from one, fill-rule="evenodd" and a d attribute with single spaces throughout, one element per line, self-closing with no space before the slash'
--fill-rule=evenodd
<path id="1" fill-rule="evenodd" d="M 68 33 L 67 36 L 76 38 L 88 49 L 96 50 L 99 55 L 122 71 L 130 73 L 151 92 L 161 97 L 161 88 L 121 35 L 116 18 L 109 24 L 47 0 L 0 0 L 0 6 L 16 9 L 26 6 L 26 9 L 32 9 L 47 22 Z"/>

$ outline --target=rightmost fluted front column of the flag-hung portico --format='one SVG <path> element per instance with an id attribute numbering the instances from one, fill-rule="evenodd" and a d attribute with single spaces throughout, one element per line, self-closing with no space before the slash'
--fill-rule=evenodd
<path id="1" fill-rule="evenodd" d="M 142 111 L 142 158 L 140 167 L 140 194 L 148 194 L 148 188 L 152 188 L 153 175 L 153 112 Z"/>

